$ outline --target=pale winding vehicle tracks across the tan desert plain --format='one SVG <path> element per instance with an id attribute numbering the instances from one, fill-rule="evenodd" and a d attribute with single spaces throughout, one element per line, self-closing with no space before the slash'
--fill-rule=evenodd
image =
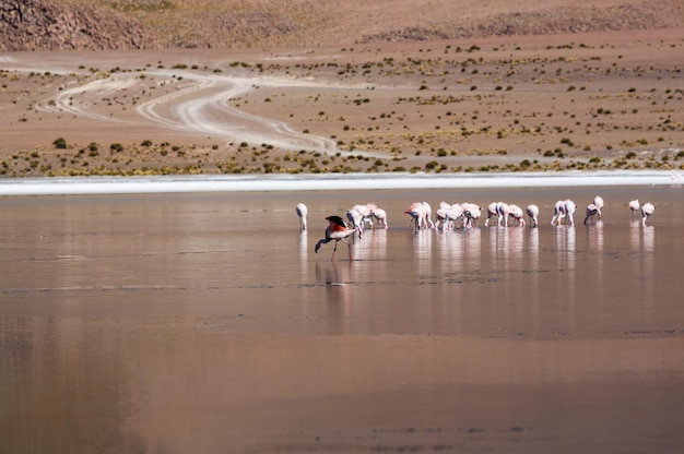
<path id="1" fill-rule="evenodd" d="M 0 64 L 2 63 L 9 63 L 12 67 L 4 68 L 7 71 L 67 73 L 67 70 L 59 68 L 66 64 L 63 61 L 51 65 L 46 60 L 11 58 L 1 59 Z M 326 154 L 340 152 L 345 155 L 351 153 L 338 150 L 337 143 L 331 139 L 297 132 L 283 121 L 245 112 L 231 106 L 229 101 L 259 86 L 367 88 L 366 85 L 347 86 L 292 77 L 204 75 L 177 70 L 145 71 L 144 74 L 143 79 L 140 73 L 121 72 L 110 73 L 106 77 L 86 83 L 74 80 L 66 85 L 54 87 L 55 93 L 38 101 L 36 108 L 45 112 L 69 113 L 94 121 L 137 126 L 146 121 L 150 126 L 181 133 L 202 134 L 250 144 L 268 143 L 284 150 L 309 150 Z M 148 89 L 152 77 L 158 77 L 162 81 L 157 82 L 157 87 L 175 79 L 178 82 L 173 93 L 156 95 L 154 91 Z M 73 86 L 74 84 L 78 86 Z M 139 118 L 121 118 L 104 112 L 104 106 L 107 106 L 111 98 L 120 96 L 122 92 L 127 92 L 126 94 L 130 96 L 144 93 L 145 96 L 154 97 L 135 106 L 134 112 Z"/>

